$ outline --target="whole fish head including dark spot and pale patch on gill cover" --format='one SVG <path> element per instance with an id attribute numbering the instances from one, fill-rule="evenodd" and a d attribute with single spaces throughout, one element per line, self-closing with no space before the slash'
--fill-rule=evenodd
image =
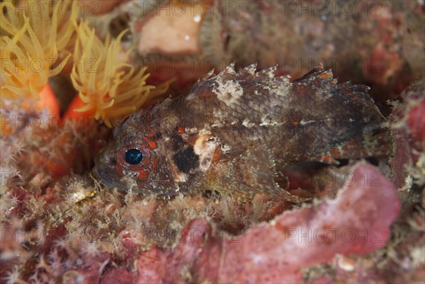
<path id="1" fill-rule="evenodd" d="M 133 113 L 114 129 L 95 159 L 105 186 L 170 196 L 189 191 L 208 171 L 217 148 L 209 133 L 188 134 L 178 118 L 159 118 L 159 110 Z"/>

